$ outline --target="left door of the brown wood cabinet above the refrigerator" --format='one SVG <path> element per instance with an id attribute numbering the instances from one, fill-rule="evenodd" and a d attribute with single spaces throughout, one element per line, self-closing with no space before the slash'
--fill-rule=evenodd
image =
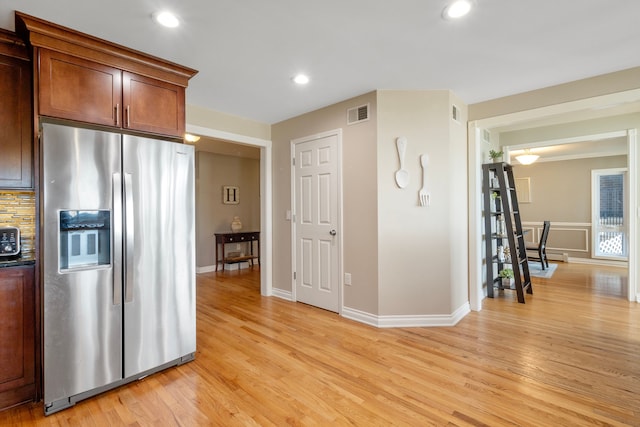
<path id="1" fill-rule="evenodd" d="M 43 116 L 121 126 L 122 72 L 40 50 L 39 112 Z"/>

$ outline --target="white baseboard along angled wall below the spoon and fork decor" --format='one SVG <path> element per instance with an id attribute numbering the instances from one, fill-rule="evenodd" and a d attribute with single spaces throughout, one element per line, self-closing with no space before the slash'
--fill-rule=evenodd
<path id="1" fill-rule="evenodd" d="M 469 302 L 466 302 L 452 314 L 377 316 L 355 308 L 344 307 L 342 316 L 377 328 L 413 328 L 454 326 L 470 312 Z"/>

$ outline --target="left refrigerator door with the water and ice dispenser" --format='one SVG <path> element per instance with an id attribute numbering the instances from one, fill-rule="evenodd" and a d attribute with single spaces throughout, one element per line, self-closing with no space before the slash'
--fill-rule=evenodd
<path id="1" fill-rule="evenodd" d="M 113 207 L 121 197 L 113 185 L 120 142 L 117 134 L 43 125 L 45 411 L 122 378 L 120 217 Z"/>

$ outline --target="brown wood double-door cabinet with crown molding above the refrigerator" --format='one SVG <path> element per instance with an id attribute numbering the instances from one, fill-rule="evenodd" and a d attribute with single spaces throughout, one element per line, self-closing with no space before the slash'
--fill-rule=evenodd
<path id="1" fill-rule="evenodd" d="M 16 12 L 35 48 L 38 113 L 182 138 L 197 71 Z"/>

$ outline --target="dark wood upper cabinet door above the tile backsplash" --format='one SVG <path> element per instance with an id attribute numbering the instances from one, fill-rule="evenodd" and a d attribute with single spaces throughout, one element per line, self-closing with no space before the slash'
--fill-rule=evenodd
<path id="1" fill-rule="evenodd" d="M 0 55 L 0 188 L 31 188 L 31 64 Z"/>

